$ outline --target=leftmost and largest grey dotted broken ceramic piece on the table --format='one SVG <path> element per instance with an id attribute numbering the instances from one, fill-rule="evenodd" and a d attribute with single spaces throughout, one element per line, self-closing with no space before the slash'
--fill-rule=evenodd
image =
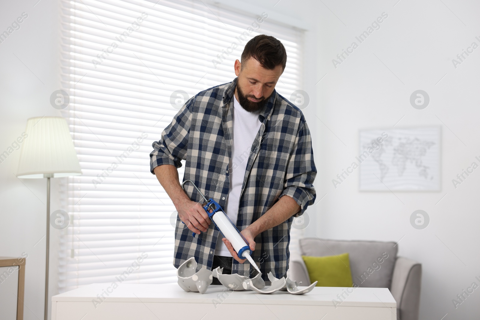
<path id="1" fill-rule="evenodd" d="M 212 284 L 213 275 L 211 270 L 206 268 L 197 270 L 197 261 L 192 257 L 183 262 L 177 269 L 178 284 L 186 292 L 205 293 L 210 284 Z"/>

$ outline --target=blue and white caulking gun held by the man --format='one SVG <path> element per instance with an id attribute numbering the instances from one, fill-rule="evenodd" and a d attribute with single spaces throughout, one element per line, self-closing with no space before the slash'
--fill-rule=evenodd
<path id="1" fill-rule="evenodd" d="M 240 231 L 237 229 L 237 227 L 232 223 L 232 221 L 228 218 L 227 214 L 223 211 L 222 207 L 213 199 L 207 200 L 205 198 L 204 194 L 202 191 L 200 191 L 195 183 L 192 180 L 185 180 L 181 184 L 181 187 L 185 185 L 186 182 L 191 182 L 193 187 L 200 193 L 200 195 L 204 198 L 205 202 L 202 204 L 202 207 L 204 208 L 205 212 L 208 214 L 208 217 L 214 222 L 218 230 L 220 230 L 220 233 L 223 235 L 224 238 L 227 238 L 228 241 L 232 244 L 233 249 L 237 251 L 237 254 L 240 259 L 248 259 L 252 266 L 257 269 L 257 271 L 260 273 L 260 269 L 258 269 L 257 265 L 253 261 L 253 258 L 251 257 L 252 250 L 250 249 L 250 246 L 248 245 L 247 240 L 242 236 Z M 183 188 L 185 190 L 185 188 Z M 186 191 L 185 191 L 186 192 Z M 212 212 L 210 212 L 212 210 Z M 182 223 L 184 223 L 182 221 Z M 195 233 L 193 232 L 193 237 L 195 237 Z"/>

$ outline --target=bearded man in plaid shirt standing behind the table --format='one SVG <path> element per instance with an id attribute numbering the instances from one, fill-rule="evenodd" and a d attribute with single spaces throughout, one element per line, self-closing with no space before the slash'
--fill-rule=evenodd
<path id="1" fill-rule="evenodd" d="M 224 208 L 253 250 L 266 284 L 270 271 L 286 276 L 291 223 L 315 201 L 316 176 L 303 114 L 275 91 L 286 62 L 280 41 L 255 36 L 241 63 L 235 61 L 237 78 L 189 99 L 153 143 L 151 172 L 179 216 L 176 268 L 194 256 L 199 268 L 220 266 L 224 274 L 249 276 L 254 270 L 221 236 L 192 184 L 185 184 L 188 195 L 182 190 L 177 168 L 186 160 L 184 180 Z M 216 278 L 213 284 L 219 284 Z"/>

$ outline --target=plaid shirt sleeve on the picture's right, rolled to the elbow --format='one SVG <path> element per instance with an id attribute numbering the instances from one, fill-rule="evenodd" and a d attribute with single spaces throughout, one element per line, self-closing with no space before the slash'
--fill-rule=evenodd
<path id="1" fill-rule="evenodd" d="M 284 190 L 279 196 L 281 198 L 287 195 L 298 203 L 300 211 L 294 214 L 294 217 L 303 214 L 307 207 L 315 201 L 316 195 L 313 180 L 316 175 L 317 169 L 313 162 L 310 130 L 307 123 L 303 122 L 288 159 Z"/>

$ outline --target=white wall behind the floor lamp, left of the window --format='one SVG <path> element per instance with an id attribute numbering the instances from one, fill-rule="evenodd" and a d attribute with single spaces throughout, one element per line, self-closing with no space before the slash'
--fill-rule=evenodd
<path id="1" fill-rule="evenodd" d="M 58 2 L 36 2 L 0 1 L 0 32 L 22 12 L 28 14 L 20 29 L 0 43 L 0 153 L 24 132 L 28 118 L 60 116 L 49 104 L 50 94 L 60 85 Z M 36 320 L 43 319 L 44 310 L 47 179 L 16 178 L 19 156 L 20 150 L 15 150 L 0 164 L 0 256 L 28 254 L 24 319 Z M 58 183 L 52 179 L 51 211 L 60 209 Z M 50 237 L 50 263 L 55 264 L 56 233 Z M 56 294 L 55 268 L 50 268 L 50 294 Z"/>

